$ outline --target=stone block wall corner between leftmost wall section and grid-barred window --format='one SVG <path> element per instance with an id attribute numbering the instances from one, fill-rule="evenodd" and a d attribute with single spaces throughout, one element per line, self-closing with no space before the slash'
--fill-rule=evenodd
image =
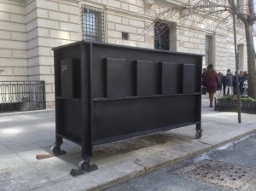
<path id="1" fill-rule="evenodd" d="M 45 80 L 47 107 L 54 107 L 55 101 L 51 49 L 82 39 L 79 12 L 77 1 L 37 0 L 26 3 L 29 79 Z"/>

